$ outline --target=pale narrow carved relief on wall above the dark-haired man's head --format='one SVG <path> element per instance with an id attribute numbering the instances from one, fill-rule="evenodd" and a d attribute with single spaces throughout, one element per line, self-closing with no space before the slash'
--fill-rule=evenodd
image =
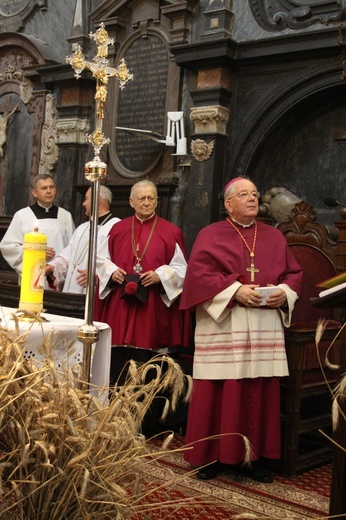
<path id="1" fill-rule="evenodd" d="M 53 94 L 46 96 L 45 122 L 41 133 L 41 157 L 39 173 L 51 173 L 58 162 L 58 139 L 56 132 L 56 106 Z"/>

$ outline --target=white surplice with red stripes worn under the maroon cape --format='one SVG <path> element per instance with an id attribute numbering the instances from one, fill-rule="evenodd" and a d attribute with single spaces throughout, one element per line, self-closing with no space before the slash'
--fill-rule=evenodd
<path id="1" fill-rule="evenodd" d="M 289 327 L 297 293 L 286 284 L 288 309 L 227 304 L 239 287 L 232 284 L 196 309 L 195 379 L 224 380 L 287 376 L 283 327 Z"/>

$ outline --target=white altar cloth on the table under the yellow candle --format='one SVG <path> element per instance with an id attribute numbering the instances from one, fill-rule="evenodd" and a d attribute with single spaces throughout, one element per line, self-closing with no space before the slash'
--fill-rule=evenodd
<path id="1" fill-rule="evenodd" d="M 16 309 L 0 306 L 0 325 L 15 330 L 12 314 Z M 20 334 L 30 331 L 25 339 L 23 356 L 38 363 L 46 359 L 44 342 L 50 343 L 51 359 L 58 368 L 73 368 L 83 363 L 83 344 L 77 339 L 77 332 L 84 321 L 67 316 L 42 313 L 43 322 L 19 322 Z M 90 368 L 90 392 L 101 400 L 108 398 L 109 370 L 111 358 L 111 329 L 106 323 L 94 322 L 99 331 L 99 339 L 92 346 Z M 103 389 L 103 392 L 100 390 Z"/>

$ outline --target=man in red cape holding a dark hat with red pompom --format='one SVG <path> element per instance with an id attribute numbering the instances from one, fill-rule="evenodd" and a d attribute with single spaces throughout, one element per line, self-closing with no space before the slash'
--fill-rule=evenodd
<path id="1" fill-rule="evenodd" d="M 145 362 L 157 354 L 178 358 L 179 347 L 190 337 L 189 313 L 179 309 L 187 269 L 183 233 L 157 215 L 157 190 L 151 181 L 134 184 L 129 202 L 134 215 L 112 227 L 97 260 L 102 268 L 97 269 L 94 317 L 112 329 L 111 384 L 129 359 Z M 102 256 L 108 261 L 101 261 Z M 174 420 L 183 422 L 178 416 Z M 143 428 L 154 433 L 157 421 L 157 414 L 152 415 Z"/>

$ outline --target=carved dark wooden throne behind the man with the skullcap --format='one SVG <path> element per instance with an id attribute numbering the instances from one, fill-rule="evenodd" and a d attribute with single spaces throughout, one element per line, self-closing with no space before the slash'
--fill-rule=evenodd
<path id="1" fill-rule="evenodd" d="M 328 382 L 333 386 L 344 371 L 342 339 L 332 349 L 331 361 L 339 371 L 326 368 L 324 354 L 341 323 L 333 309 L 313 307 L 310 298 L 319 295 L 316 283 L 336 274 L 338 244 L 325 226 L 315 221 L 311 204 L 295 205 L 288 222 L 278 225 L 303 269 L 303 287 L 296 303 L 292 324 L 286 329 L 286 351 L 289 376 L 282 381 L 281 469 L 285 476 L 330 461 L 332 446 L 320 432 L 331 434 L 331 396 L 324 380 L 315 345 L 318 320 L 324 318 L 327 327 L 319 345 L 320 359 Z"/>

